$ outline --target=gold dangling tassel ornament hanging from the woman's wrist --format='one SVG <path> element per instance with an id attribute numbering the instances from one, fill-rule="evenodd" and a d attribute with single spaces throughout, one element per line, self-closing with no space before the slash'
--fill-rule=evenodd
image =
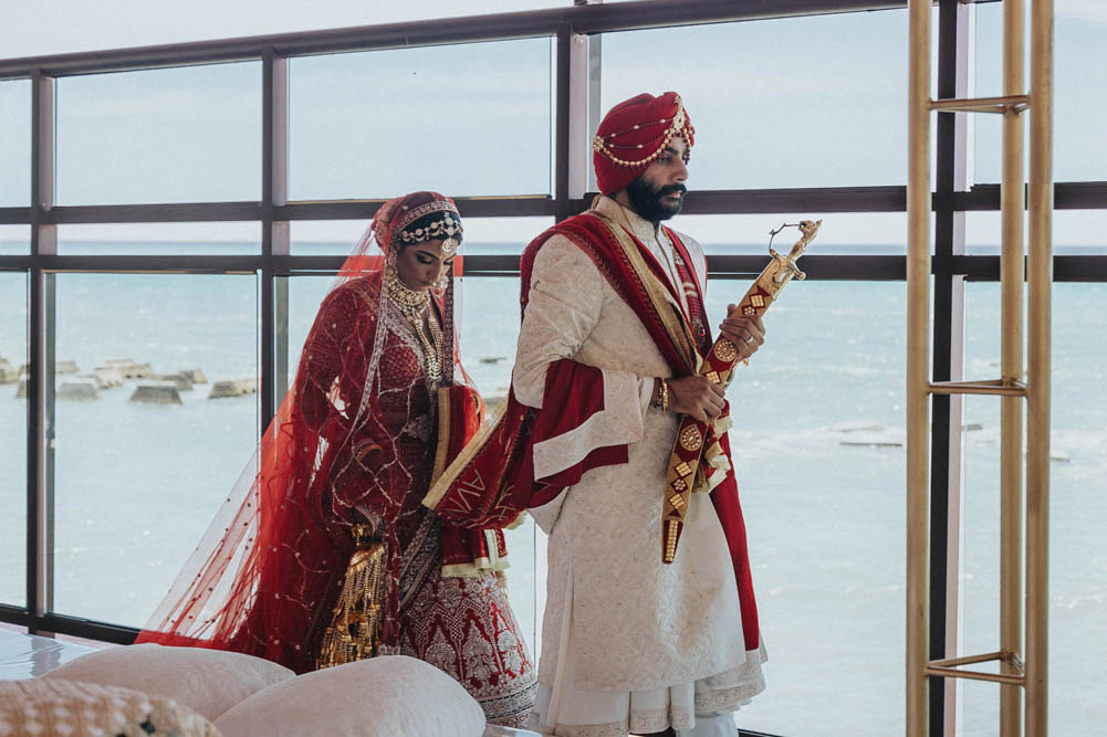
<path id="1" fill-rule="evenodd" d="M 358 549 L 350 557 L 342 593 L 315 661 L 320 669 L 373 657 L 384 624 L 385 544 L 368 525 L 353 528 Z"/>

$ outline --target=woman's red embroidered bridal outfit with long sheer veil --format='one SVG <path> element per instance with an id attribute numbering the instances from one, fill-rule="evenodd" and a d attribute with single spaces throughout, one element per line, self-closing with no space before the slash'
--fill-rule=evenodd
<path id="1" fill-rule="evenodd" d="M 457 357 L 453 279 L 421 302 L 394 259 L 432 238 L 456 247 L 456 216 L 434 193 L 382 206 L 323 300 L 294 386 L 136 642 L 298 673 L 410 655 L 464 685 L 488 722 L 525 725 L 537 685 L 501 585 L 503 531 L 422 505 L 483 405 Z"/>

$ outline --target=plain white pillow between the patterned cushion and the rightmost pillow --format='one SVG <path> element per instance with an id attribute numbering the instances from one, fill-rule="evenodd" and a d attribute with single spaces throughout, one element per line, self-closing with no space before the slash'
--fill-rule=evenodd
<path id="1" fill-rule="evenodd" d="M 260 657 L 153 643 L 107 647 L 70 661 L 44 678 L 68 678 L 168 696 L 213 722 L 244 698 L 296 677 Z"/>

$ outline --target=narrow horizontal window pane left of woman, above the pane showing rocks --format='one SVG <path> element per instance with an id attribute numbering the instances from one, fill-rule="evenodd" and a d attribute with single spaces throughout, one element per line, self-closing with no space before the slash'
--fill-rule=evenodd
<path id="1" fill-rule="evenodd" d="M 107 222 L 58 226 L 63 256 L 235 256 L 261 252 L 258 222 Z"/>

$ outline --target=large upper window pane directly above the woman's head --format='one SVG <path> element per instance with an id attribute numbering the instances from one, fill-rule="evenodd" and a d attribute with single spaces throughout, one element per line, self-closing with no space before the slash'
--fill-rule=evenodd
<path id="1" fill-rule="evenodd" d="M 292 59 L 290 198 L 549 193 L 550 44 Z"/>

